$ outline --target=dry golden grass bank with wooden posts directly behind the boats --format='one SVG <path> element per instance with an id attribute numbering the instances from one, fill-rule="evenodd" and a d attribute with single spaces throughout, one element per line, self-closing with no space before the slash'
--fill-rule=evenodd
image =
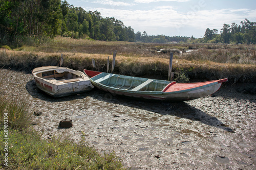
<path id="1" fill-rule="evenodd" d="M 0 65 L 31 71 L 35 67 L 46 65 L 59 65 L 60 56 L 63 54 L 62 66 L 72 69 L 92 69 L 92 59 L 95 60 L 96 70 L 106 71 L 106 60 L 112 54 L 87 54 L 87 53 L 44 53 L 1 50 Z M 169 59 L 163 57 L 127 57 L 116 56 L 115 72 L 131 76 L 152 76 L 166 79 L 168 74 Z M 228 78 L 230 82 L 253 82 L 256 80 L 256 66 L 253 64 L 216 63 L 208 60 L 186 60 L 174 56 L 172 71 L 185 71 L 190 79 L 212 80 Z"/>

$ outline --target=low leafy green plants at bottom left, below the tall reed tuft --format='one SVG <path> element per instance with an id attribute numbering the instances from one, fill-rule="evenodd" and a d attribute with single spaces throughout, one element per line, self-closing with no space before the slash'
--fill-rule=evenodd
<path id="1" fill-rule="evenodd" d="M 0 131 L 1 162 L 4 162 L 4 131 Z M 11 130 L 8 140 L 8 169 L 122 169 L 118 158 L 100 155 L 81 140 L 41 139 L 34 130 Z M 1 165 L 0 167 L 6 167 Z"/>

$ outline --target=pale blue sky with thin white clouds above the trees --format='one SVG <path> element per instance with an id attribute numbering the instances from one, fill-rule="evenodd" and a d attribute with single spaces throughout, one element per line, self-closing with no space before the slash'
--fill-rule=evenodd
<path id="1" fill-rule="evenodd" d="M 62 0 L 63 1 L 63 0 Z M 207 28 L 220 33 L 223 24 L 247 18 L 256 22 L 255 0 L 66 0 L 74 7 L 98 11 L 103 18 L 114 17 L 134 33 L 194 36 L 201 38 Z"/>

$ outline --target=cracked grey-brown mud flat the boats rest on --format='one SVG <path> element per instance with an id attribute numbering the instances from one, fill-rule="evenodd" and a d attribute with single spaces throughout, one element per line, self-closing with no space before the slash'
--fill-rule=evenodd
<path id="1" fill-rule="evenodd" d="M 45 138 L 82 138 L 101 153 L 114 151 L 131 169 L 256 169 L 255 84 L 224 85 L 182 103 L 135 101 L 97 89 L 54 99 L 37 89 L 31 74 L 0 74 L 2 94 L 13 87 L 13 95 L 42 112 L 33 115 L 32 128 Z M 58 129 L 65 118 L 73 127 Z"/>

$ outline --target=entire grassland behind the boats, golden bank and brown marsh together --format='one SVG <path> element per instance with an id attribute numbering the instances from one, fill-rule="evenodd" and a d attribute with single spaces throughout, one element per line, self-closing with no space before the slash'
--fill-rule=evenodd
<path id="1" fill-rule="evenodd" d="M 57 37 L 33 46 L 1 50 L 0 66 L 30 72 L 42 65 L 58 65 L 82 70 L 106 71 L 106 59 L 117 50 L 115 72 L 122 75 L 166 79 L 169 54 L 174 53 L 175 76 L 186 72 L 190 79 L 228 78 L 229 83 L 256 81 L 256 46 L 222 44 L 148 44 L 105 42 Z M 190 50 L 190 51 L 189 51 Z"/>

